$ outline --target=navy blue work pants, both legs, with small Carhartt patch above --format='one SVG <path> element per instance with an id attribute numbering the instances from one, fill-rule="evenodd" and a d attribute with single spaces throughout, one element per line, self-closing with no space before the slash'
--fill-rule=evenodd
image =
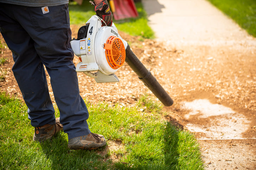
<path id="1" fill-rule="evenodd" d="M 46 10 L 47 11 L 47 10 Z M 44 66 L 68 137 L 88 135 L 87 107 L 79 95 L 70 46 L 68 4 L 26 7 L 0 3 L 0 32 L 13 54 L 13 74 L 33 127 L 55 123 Z"/>

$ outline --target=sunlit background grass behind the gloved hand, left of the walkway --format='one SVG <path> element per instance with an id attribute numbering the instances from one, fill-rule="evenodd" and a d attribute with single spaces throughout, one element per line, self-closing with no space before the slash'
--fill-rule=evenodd
<path id="1" fill-rule="evenodd" d="M 148 26 L 147 13 L 143 9 L 141 2 L 135 3 L 139 17 L 124 20 L 113 20 L 116 28 L 119 31 L 126 32 L 133 36 L 140 36 L 142 38 L 154 38 L 153 30 Z M 87 1 L 84 1 L 81 6 L 76 2 L 69 4 L 70 23 L 76 25 L 85 25 L 85 22 L 95 15 L 94 7 Z"/>

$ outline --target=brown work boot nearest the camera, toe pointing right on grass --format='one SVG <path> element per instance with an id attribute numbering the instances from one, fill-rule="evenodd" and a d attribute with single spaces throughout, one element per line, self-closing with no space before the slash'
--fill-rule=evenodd
<path id="1" fill-rule="evenodd" d="M 74 137 L 69 140 L 69 149 L 96 149 L 103 147 L 106 144 L 106 139 L 102 135 L 90 133 L 87 136 Z"/>

